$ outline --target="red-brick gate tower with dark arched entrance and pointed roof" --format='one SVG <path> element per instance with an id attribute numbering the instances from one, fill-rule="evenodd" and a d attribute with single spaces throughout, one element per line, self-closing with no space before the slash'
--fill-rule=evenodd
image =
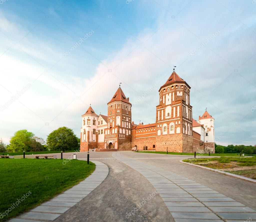
<path id="1" fill-rule="evenodd" d="M 104 148 L 131 150 L 131 107 L 121 87 L 108 102 L 108 128 L 105 129 Z"/>

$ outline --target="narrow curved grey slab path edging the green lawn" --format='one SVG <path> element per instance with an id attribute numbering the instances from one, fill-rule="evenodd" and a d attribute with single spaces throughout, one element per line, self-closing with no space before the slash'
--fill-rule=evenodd
<path id="1" fill-rule="evenodd" d="M 61 216 L 97 188 L 108 176 L 107 165 L 98 161 L 92 162 L 96 164 L 96 169 L 85 180 L 28 213 L 11 219 L 10 222 L 52 221 Z"/>

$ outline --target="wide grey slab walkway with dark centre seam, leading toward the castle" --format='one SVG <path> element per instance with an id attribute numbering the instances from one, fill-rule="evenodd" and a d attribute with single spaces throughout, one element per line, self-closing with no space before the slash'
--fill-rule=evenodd
<path id="1" fill-rule="evenodd" d="M 256 220 L 255 210 L 194 180 L 123 157 L 119 152 L 112 157 L 140 172 L 153 185 L 176 222 Z"/>

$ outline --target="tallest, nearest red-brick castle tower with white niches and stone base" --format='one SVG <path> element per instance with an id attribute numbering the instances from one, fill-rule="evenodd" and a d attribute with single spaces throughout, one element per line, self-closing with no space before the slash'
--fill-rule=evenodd
<path id="1" fill-rule="evenodd" d="M 190 86 L 173 71 L 159 89 L 156 106 L 156 150 L 193 152 Z"/>

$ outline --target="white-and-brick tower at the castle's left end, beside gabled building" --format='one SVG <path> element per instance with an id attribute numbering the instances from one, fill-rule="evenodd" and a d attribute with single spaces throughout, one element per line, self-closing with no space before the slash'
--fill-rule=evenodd
<path id="1" fill-rule="evenodd" d="M 89 149 L 95 149 L 98 146 L 98 132 L 97 132 L 98 115 L 90 107 L 82 115 L 82 127 L 80 134 L 80 151 L 85 152 Z"/>

